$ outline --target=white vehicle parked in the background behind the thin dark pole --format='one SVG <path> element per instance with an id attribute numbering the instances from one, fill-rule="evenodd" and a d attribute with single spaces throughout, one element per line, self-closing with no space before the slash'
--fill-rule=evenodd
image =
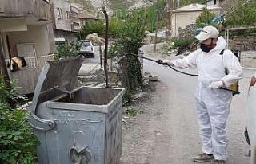
<path id="1" fill-rule="evenodd" d="M 84 57 L 94 57 L 94 45 L 91 41 L 81 40 L 78 43 L 81 45 L 80 54 Z"/>

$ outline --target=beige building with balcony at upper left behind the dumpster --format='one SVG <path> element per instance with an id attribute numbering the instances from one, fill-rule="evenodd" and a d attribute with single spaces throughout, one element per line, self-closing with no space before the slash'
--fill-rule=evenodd
<path id="1" fill-rule="evenodd" d="M 50 0 L 1 0 L 0 49 L 7 61 L 24 57 L 27 66 L 9 72 L 19 93 L 34 91 L 45 61 L 53 59 L 54 31 Z"/>

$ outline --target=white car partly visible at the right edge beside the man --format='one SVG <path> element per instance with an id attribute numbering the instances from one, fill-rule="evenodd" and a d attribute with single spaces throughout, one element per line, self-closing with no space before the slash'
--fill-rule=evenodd
<path id="1" fill-rule="evenodd" d="M 247 107 L 247 143 L 250 144 L 251 164 L 256 164 L 256 73 L 251 77 Z M 245 132 L 246 134 L 246 132 Z M 248 139 L 249 138 L 249 139 Z"/>

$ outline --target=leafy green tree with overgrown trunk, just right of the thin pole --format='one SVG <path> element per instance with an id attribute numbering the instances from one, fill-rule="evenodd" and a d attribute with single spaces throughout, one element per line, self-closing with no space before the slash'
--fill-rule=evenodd
<path id="1" fill-rule="evenodd" d="M 142 41 L 146 36 L 146 16 L 142 11 L 134 11 L 133 14 L 124 21 L 120 29 L 118 39 L 113 48 L 110 49 L 110 55 L 121 54 L 123 57 L 126 53 L 138 54 L 138 49 L 142 46 Z M 114 53 L 115 52 L 115 53 Z M 117 52 L 117 53 L 116 53 Z M 142 86 L 141 65 L 138 57 L 126 55 L 123 58 L 122 68 L 122 87 L 126 88 L 126 100 L 130 101 L 133 92 Z"/>

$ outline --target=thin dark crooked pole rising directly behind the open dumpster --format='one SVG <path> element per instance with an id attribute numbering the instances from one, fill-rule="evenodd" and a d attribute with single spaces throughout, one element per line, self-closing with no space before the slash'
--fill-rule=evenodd
<path id="1" fill-rule="evenodd" d="M 109 16 L 106 13 L 105 6 L 102 7 L 104 16 L 105 16 L 105 21 L 106 21 L 106 26 L 105 26 L 105 49 L 104 49 L 104 72 L 105 72 L 105 79 L 106 79 L 106 88 L 109 87 L 109 76 L 108 76 L 108 64 L 107 64 L 107 51 L 108 51 L 108 32 L 109 32 Z"/>

